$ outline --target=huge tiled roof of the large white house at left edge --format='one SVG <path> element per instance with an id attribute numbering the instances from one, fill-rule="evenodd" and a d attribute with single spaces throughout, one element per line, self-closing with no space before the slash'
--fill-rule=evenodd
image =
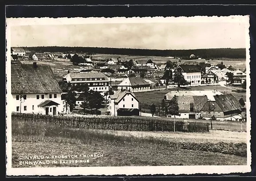
<path id="1" fill-rule="evenodd" d="M 12 94 L 62 92 L 50 65 L 11 65 Z"/>

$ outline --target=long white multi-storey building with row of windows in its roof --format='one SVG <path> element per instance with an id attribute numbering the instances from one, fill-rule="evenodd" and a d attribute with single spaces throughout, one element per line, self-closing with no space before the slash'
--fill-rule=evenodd
<path id="1" fill-rule="evenodd" d="M 90 90 L 98 92 L 109 91 L 110 80 L 101 72 L 91 71 L 88 73 L 67 73 L 63 81 L 71 84 L 87 84 Z"/>

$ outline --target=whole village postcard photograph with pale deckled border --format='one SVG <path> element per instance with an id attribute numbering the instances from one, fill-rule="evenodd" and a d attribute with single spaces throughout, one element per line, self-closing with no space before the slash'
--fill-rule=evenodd
<path id="1" fill-rule="evenodd" d="M 6 23 L 8 175 L 251 171 L 249 16 Z"/>

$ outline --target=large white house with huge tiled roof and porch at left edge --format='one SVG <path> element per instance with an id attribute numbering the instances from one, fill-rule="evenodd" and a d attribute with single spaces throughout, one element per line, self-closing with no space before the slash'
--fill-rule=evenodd
<path id="1" fill-rule="evenodd" d="M 49 65 L 36 62 L 12 65 L 11 93 L 13 112 L 45 115 L 63 112 L 62 90 Z"/>

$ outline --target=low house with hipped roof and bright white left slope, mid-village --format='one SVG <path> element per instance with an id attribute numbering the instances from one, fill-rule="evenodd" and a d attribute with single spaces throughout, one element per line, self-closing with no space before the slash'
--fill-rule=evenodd
<path id="1" fill-rule="evenodd" d="M 150 90 L 150 84 L 141 77 L 127 77 L 117 87 L 118 90 L 129 90 L 130 92 Z"/>

